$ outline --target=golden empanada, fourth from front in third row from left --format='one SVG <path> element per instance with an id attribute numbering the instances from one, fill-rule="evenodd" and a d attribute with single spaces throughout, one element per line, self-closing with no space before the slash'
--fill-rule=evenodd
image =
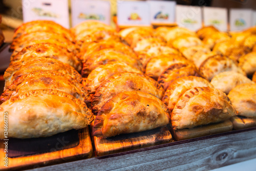
<path id="1" fill-rule="evenodd" d="M 186 58 L 176 54 L 160 55 L 150 59 L 146 65 L 145 75 L 157 80 L 163 71 L 174 63 L 187 63 Z"/>

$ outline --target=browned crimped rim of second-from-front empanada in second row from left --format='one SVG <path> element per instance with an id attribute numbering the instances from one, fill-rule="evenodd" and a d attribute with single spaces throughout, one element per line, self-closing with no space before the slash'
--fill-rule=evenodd
<path id="1" fill-rule="evenodd" d="M 148 77 L 144 74 L 139 74 L 139 73 L 134 73 L 134 72 L 123 72 L 123 73 L 114 74 L 113 76 L 109 77 L 108 79 L 106 79 L 104 82 L 101 83 L 100 87 L 95 91 L 95 94 L 92 97 L 91 104 L 92 104 L 92 112 L 94 113 L 94 115 L 96 115 L 101 110 L 101 109 L 99 109 L 99 106 L 98 106 L 98 103 L 101 101 L 101 98 L 102 98 L 101 88 L 106 88 L 106 84 L 111 82 L 111 80 L 115 80 L 119 77 L 122 77 L 124 74 L 131 74 L 131 75 L 133 74 L 133 75 L 136 75 L 138 77 L 145 77 L 149 82 L 153 83 L 153 85 L 157 88 L 159 94 L 161 94 L 161 92 L 162 92 L 162 94 L 164 94 L 164 90 L 160 86 L 160 84 L 156 80 L 154 80 L 153 78 Z M 138 91 L 140 91 L 140 89 Z"/>

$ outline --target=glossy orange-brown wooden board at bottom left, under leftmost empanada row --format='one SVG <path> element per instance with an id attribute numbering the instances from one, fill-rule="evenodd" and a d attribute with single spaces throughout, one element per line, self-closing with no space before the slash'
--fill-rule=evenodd
<path id="1" fill-rule="evenodd" d="M 71 132 L 71 134 L 73 133 L 74 132 Z M 54 148 L 51 147 L 50 151 L 46 153 L 38 152 L 39 149 L 37 149 L 36 146 L 29 148 L 29 146 L 31 145 L 29 141 L 27 142 L 28 147 L 26 147 L 25 145 L 20 147 L 18 143 L 15 144 L 15 142 L 11 142 L 11 140 L 9 140 L 10 142 L 8 142 L 8 167 L 4 166 L 3 164 L 3 156 L 5 156 L 5 147 L 3 145 L 4 141 L 1 140 L 0 161 L 2 164 L 0 165 L 0 170 L 37 168 L 41 166 L 63 163 L 67 161 L 90 158 L 93 155 L 93 147 L 90 138 L 89 128 L 86 127 L 85 129 L 78 130 L 76 131 L 76 133 L 78 134 L 76 134 L 78 136 L 77 143 L 72 142 L 72 144 L 70 144 L 71 147 L 67 148 L 68 145 L 66 146 L 66 144 L 68 144 L 68 142 L 72 140 L 67 140 L 66 138 L 57 138 L 58 142 L 56 142 L 54 145 L 55 151 Z M 47 146 L 47 144 L 45 146 Z M 14 151 L 16 151 L 16 153 Z M 38 152 L 39 154 L 33 154 L 34 151 Z"/>

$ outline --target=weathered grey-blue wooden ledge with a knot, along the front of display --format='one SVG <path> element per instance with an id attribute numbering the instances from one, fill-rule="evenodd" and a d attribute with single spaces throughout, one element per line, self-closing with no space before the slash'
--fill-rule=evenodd
<path id="1" fill-rule="evenodd" d="M 33 170 L 210 170 L 256 158 L 256 127 Z"/>

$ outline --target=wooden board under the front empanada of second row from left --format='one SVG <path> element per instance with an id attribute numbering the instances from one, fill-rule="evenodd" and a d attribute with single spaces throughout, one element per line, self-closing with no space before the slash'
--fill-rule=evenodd
<path id="1" fill-rule="evenodd" d="M 97 156 L 130 151 L 133 149 L 173 142 L 167 127 L 110 138 L 93 137 Z"/>

